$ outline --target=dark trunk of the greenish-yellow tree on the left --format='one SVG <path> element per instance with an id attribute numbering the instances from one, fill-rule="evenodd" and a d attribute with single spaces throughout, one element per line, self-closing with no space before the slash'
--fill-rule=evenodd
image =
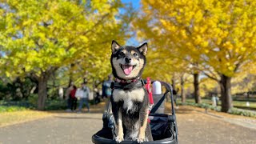
<path id="1" fill-rule="evenodd" d="M 42 75 L 38 78 L 38 110 L 44 110 L 47 98 L 47 81 L 48 78 Z"/>

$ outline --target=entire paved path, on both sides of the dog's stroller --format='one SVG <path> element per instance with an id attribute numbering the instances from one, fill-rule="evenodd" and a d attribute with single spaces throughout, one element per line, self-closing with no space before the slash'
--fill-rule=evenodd
<path id="1" fill-rule="evenodd" d="M 180 106 L 177 113 L 178 138 L 181 144 L 256 143 L 255 129 L 238 126 L 226 122 L 222 117 L 204 114 L 186 106 Z M 50 118 L 0 128 L 0 143 L 90 144 L 92 134 L 101 128 L 100 113 L 54 114 Z"/>

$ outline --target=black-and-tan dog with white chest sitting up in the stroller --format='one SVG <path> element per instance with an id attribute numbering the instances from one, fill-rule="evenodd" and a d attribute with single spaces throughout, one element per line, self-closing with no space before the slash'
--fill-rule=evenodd
<path id="1" fill-rule="evenodd" d="M 110 58 L 115 82 L 110 102 L 114 115 L 115 141 L 153 141 L 148 122 L 149 98 L 141 79 L 146 66 L 147 43 L 120 46 L 112 41 Z"/>

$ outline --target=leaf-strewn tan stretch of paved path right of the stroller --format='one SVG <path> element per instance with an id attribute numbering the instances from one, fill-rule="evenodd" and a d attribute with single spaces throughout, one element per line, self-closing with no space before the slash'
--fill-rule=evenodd
<path id="1" fill-rule="evenodd" d="M 241 123 L 238 126 L 233 118 L 222 115 L 205 114 L 202 111 L 195 111 L 187 108 L 177 110 L 178 138 L 184 144 L 229 144 L 229 143 L 256 143 L 256 129 L 250 129 Z M 230 122 L 226 122 L 226 119 Z M 255 119 L 256 120 L 256 119 Z M 256 126 L 256 121 L 250 125 Z"/>

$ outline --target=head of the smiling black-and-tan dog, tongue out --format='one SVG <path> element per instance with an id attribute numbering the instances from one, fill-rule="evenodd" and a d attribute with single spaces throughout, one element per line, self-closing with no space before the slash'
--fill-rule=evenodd
<path id="1" fill-rule="evenodd" d="M 112 41 L 111 66 L 115 78 L 131 80 L 142 75 L 146 65 L 147 43 L 142 46 L 120 46 Z"/>

